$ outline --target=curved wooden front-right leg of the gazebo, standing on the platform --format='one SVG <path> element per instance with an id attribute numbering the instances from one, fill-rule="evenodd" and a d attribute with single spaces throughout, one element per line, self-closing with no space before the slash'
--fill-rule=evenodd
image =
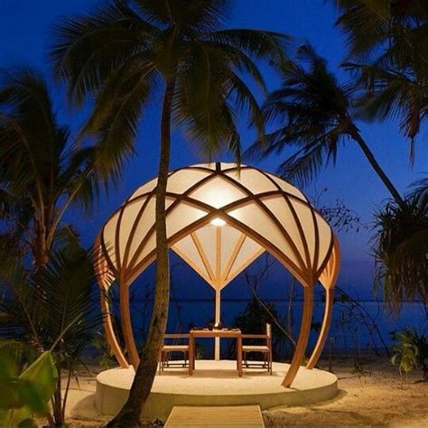
<path id="1" fill-rule="evenodd" d="M 311 332 L 311 322 L 312 322 L 312 305 L 313 305 L 313 285 L 303 286 L 303 313 L 302 313 L 302 325 L 299 335 L 299 340 L 297 341 L 296 349 L 294 350 L 293 360 L 290 364 L 284 381 L 282 383 L 286 388 L 290 387 L 293 384 L 294 377 L 296 377 L 297 372 L 299 371 L 300 365 L 302 364 L 302 359 L 304 357 L 304 351 L 309 340 L 309 334 Z"/>

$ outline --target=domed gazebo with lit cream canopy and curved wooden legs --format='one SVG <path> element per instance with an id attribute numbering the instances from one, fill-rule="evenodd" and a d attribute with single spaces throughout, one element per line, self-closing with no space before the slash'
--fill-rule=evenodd
<path id="1" fill-rule="evenodd" d="M 155 258 L 154 205 L 157 179 L 132 193 L 107 220 L 96 240 L 107 340 L 122 368 L 139 363 L 131 324 L 129 287 Z M 170 172 L 166 194 L 168 246 L 216 292 L 265 251 L 302 284 L 301 330 L 283 386 L 289 387 L 304 356 L 312 321 L 314 285 L 326 292 L 319 338 L 306 368 L 320 358 L 327 338 L 340 247 L 329 224 L 301 191 L 274 174 L 236 163 L 205 163 Z M 121 328 L 129 356 L 116 340 L 107 291 L 119 285 Z M 219 359 L 219 340 L 215 358 Z"/>

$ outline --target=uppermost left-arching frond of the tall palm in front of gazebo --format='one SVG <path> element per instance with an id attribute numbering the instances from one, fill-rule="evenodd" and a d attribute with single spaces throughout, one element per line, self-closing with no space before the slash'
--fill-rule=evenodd
<path id="1" fill-rule="evenodd" d="M 69 99 L 80 106 L 96 95 L 110 73 L 146 49 L 157 31 L 123 1 L 62 20 L 54 27 L 51 58 L 55 75 L 69 82 Z"/>

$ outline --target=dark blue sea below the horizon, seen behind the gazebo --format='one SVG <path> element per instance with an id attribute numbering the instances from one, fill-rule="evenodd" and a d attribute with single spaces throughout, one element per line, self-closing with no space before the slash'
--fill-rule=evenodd
<path id="1" fill-rule="evenodd" d="M 221 319 L 227 327 L 239 313 L 244 312 L 249 299 L 225 299 L 221 302 Z M 264 299 L 270 302 L 280 314 L 287 311 L 288 301 L 285 299 Z M 132 305 L 133 325 L 137 340 L 141 340 L 148 328 L 152 299 L 137 299 Z M 324 303 L 314 303 L 314 322 L 321 322 Z M 207 326 L 213 319 L 214 306 L 212 299 L 174 299 L 170 303 L 167 332 L 188 331 L 191 326 Z M 293 334 L 297 336 L 302 300 L 293 302 Z M 428 319 L 421 303 L 405 302 L 397 317 L 392 316 L 382 303 L 375 301 L 359 301 L 354 303 L 336 303 L 333 310 L 330 336 L 333 352 L 349 352 L 355 349 L 361 352 L 379 349 L 391 345 L 390 332 L 404 328 L 415 328 L 427 332 Z M 312 331 L 309 346 L 317 340 L 317 332 Z M 332 342 L 330 342 L 332 340 Z M 202 340 L 204 356 L 212 354 L 213 340 Z M 222 349 L 226 349 L 223 346 Z"/>

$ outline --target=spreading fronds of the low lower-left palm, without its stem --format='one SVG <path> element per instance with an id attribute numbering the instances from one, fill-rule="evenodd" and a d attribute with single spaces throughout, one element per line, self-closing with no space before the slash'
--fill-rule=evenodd
<path id="1" fill-rule="evenodd" d="M 48 265 L 30 272 L 8 263 L 0 274 L 0 334 L 42 351 L 53 345 L 75 358 L 102 320 L 94 310 L 97 276 L 93 256 L 78 245 L 51 254 Z"/>

